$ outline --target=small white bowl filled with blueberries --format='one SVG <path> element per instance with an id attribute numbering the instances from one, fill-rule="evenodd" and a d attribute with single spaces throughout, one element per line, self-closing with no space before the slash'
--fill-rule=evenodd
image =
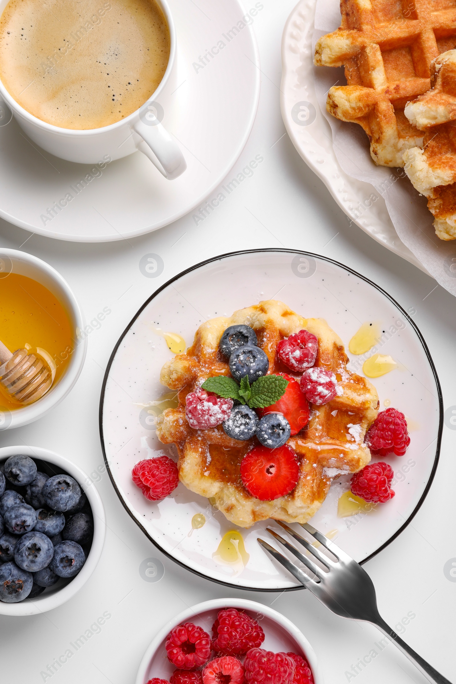
<path id="1" fill-rule="evenodd" d="M 0 449 L 0 614 L 68 601 L 92 575 L 105 529 L 103 503 L 78 466 L 38 447 Z"/>

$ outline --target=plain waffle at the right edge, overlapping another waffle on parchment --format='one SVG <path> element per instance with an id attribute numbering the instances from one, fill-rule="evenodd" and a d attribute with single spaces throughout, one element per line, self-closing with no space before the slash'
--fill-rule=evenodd
<path id="1" fill-rule="evenodd" d="M 431 90 L 410 102 L 405 114 L 425 131 L 423 149 L 404 154 L 405 172 L 414 187 L 428 198 L 435 233 L 456 239 L 456 50 L 431 64 Z"/>

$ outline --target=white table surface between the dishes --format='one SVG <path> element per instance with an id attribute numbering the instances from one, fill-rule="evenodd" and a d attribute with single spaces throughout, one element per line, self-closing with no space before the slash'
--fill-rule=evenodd
<path id="1" fill-rule="evenodd" d="M 263 3 L 254 22 L 262 69 L 260 106 L 233 174 L 255 155 L 263 155 L 265 161 L 208 218 L 196 226 L 187 215 L 145 237 L 88 246 L 30 236 L 0 220 L 1 246 L 21 248 L 55 267 L 68 280 L 87 321 L 105 306 L 112 310 L 88 337 L 85 366 L 70 395 L 39 421 L 1 432 L 1 446 L 47 447 L 88 473 L 94 471 L 103 464 L 98 434 L 103 374 L 113 345 L 133 314 L 155 288 L 186 267 L 224 252 L 258 247 L 297 248 L 336 259 L 386 289 L 406 311 L 416 311 L 414 321 L 440 377 L 444 408 L 456 405 L 456 299 L 358 226 L 349 225 L 293 148 L 280 116 L 279 88 L 282 28 L 295 2 Z M 160 254 L 165 263 L 156 280 L 145 278 L 138 267 L 150 252 Z M 456 581 L 446 578 L 444 565 L 456 560 L 455 450 L 456 432 L 444 427 L 440 464 L 425 503 L 401 536 L 364 566 L 375 583 L 384 619 L 394 627 L 408 613 L 415 614 L 404 640 L 453 681 Z M 427 681 L 392 644 L 353 674 L 356 669 L 351 666 L 376 648 L 375 628 L 332 615 L 305 590 L 244 592 L 196 577 L 161 555 L 142 534 L 106 473 L 97 486 L 108 525 L 100 563 L 79 594 L 62 607 L 29 618 L 0 616 L 2 684 L 44 681 L 41 672 L 104 611 L 111 618 L 100 633 L 46 681 L 133 684 L 146 646 L 167 620 L 195 603 L 225 596 L 273 605 L 295 622 L 316 650 L 327 684 Z M 165 566 L 157 583 L 139 575 L 140 564 L 150 557 Z"/>

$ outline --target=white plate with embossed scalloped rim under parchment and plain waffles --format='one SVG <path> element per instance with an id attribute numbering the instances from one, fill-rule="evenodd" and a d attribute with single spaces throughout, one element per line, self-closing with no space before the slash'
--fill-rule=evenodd
<path id="1" fill-rule="evenodd" d="M 286 130 L 299 155 L 325 183 L 349 219 L 375 241 L 427 273 L 397 235 L 384 198 L 369 202 L 372 185 L 351 178 L 336 159 L 330 125 L 320 111 L 314 90 L 312 34 L 316 4 L 317 0 L 301 0 L 284 27 L 280 106 Z"/>

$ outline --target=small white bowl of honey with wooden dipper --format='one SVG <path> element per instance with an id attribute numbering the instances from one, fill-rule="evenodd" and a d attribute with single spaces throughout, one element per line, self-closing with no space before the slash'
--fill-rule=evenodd
<path id="1" fill-rule="evenodd" d="M 66 280 L 18 250 L 0 248 L 0 319 L 0 430 L 8 430 L 62 402 L 81 373 L 87 339 Z"/>

